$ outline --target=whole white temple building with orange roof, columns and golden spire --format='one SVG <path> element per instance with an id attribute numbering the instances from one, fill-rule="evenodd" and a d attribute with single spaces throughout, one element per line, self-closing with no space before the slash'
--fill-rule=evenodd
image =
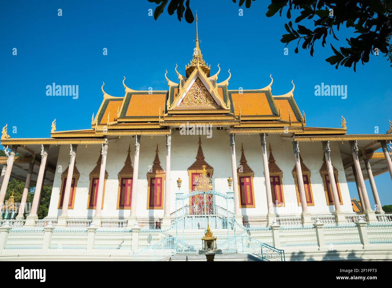
<path id="1" fill-rule="evenodd" d="M 366 221 L 384 213 L 375 177 L 392 178 L 392 124 L 375 135 L 347 134 L 343 116 L 338 128 L 309 127 L 294 100 L 294 83 L 286 94 L 274 95 L 272 76 L 256 89 L 231 90 L 230 70 L 220 79 L 219 64 L 212 74 L 201 54 L 197 17 L 191 61 L 184 75 L 177 67 L 178 79 L 168 79 L 166 71 L 167 90 L 133 90 L 124 77 L 124 95 L 112 96 L 103 84 L 103 97 L 96 96 L 101 105 L 84 130 L 57 131 L 54 120 L 50 138 L 14 139 L 5 125 L 2 208 L 10 205 L 4 207 L 4 198 L 15 177 L 26 183 L 16 216 L 26 227 L 38 221 L 43 185 L 53 185 L 45 219 L 57 227 L 75 219 L 93 220 L 96 227 L 104 220 L 169 227 L 176 219 L 176 194 L 193 193 L 204 175 L 214 191 L 234 195 L 235 219 L 248 227 L 294 216 L 302 224 L 322 216 L 346 223 L 359 212 L 353 211 L 350 181 Z M 36 188 L 26 209 L 30 184 Z M 213 193 L 207 200 L 198 197 L 186 202 L 192 215 L 216 214 Z"/>

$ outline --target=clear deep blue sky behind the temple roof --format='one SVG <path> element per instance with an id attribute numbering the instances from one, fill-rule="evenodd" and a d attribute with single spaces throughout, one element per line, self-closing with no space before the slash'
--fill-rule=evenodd
<path id="1" fill-rule="evenodd" d="M 388 129 L 392 88 L 390 63 L 384 57 L 370 56 L 365 66 L 338 70 L 325 61 L 332 55 L 327 40 L 325 48 L 316 44 L 314 57 L 309 50 L 283 54 L 280 42 L 285 34 L 285 17 L 267 18 L 269 1 L 252 2 L 239 16 L 238 4 L 231 1 L 191 0 L 198 10 L 200 48 L 211 64 L 211 73 L 220 63 L 220 79 L 230 68 L 229 89 L 262 88 L 274 83 L 272 94 L 285 94 L 296 85 L 294 99 L 304 110 L 308 126 L 340 127 L 340 116 L 347 120 L 348 133 L 380 133 Z M 3 109 L 2 126 L 16 126 L 12 138 L 50 137 L 51 122 L 57 130 L 91 127 L 91 115 L 105 92 L 123 96 L 122 79 L 130 88 L 152 87 L 166 90 L 168 77 L 176 80 L 174 67 L 185 74 L 184 66 L 192 56 L 195 23 L 178 22 L 176 15 L 163 13 L 158 21 L 148 16 L 156 4 L 138 1 L 13 1 L 2 5 L 0 17 L 0 88 Z M 62 16 L 58 16 L 58 9 Z M 294 21 L 294 19 L 293 19 Z M 351 31 L 336 34 L 345 46 Z M 17 55 L 13 55 L 13 48 Z M 107 48 L 107 55 L 103 49 Z M 46 96 L 46 85 L 79 85 L 78 99 Z M 321 83 L 347 85 L 347 99 L 315 96 L 314 86 Z M 392 204 L 390 176 L 375 178 L 381 203 Z M 350 194 L 357 194 L 349 184 Z M 368 195 L 374 200 L 367 181 Z M 358 199 L 358 196 L 356 196 Z"/>

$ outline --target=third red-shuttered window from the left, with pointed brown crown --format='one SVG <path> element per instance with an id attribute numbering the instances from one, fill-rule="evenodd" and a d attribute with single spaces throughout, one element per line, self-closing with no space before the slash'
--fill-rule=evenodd
<path id="1" fill-rule="evenodd" d="M 124 167 L 118 173 L 117 209 L 131 209 L 133 167 L 130 153 L 131 146 Z"/>

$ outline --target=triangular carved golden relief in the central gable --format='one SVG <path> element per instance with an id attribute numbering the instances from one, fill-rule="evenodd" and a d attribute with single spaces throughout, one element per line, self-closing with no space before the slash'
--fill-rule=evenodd
<path id="1" fill-rule="evenodd" d="M 220 107 L 198 77 L 179 106 Z"/>

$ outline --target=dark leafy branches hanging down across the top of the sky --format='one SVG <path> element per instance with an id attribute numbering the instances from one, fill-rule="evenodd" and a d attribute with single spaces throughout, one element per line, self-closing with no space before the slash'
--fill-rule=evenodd
<path id="1" fill-rule="evenodd" d="M 236 3 L 236 0 L 232 0 Z M 165 9 L 169 0 L 149 0 L 159 4 L 154 11 L 155 20 Z M 192 23 L 194 18 L 190 8 L 189 0 L 186 2 L 186 9 L 183 0 L 171 0 L 167 12 L 169 15 L 177 11 L 178 20 L 181 21 L 185 11 L 185 20 Z M 245 3 L 249 8 L 252 0 L 240 0 L 238 5 Z M 390 0 L 271 0 L 266 13 L 267 17 L 274 16 L 278 11 L 282 15 L 286 11 L 286 17 L 291 18 L 293 10 L 298 10 L 300 15 L 295 19 L 295 23 L 306 23 L 293 27 L 293 23 L 285 24 L 287 34 L 280 40 L 286 43 L 286 46 L 297 41 L 297 47 L 294 52 L 298 53 L 298 46 L 302 42 L 303 49 L 310 49 L 310 56 L 314 53 L 314 44 L 321 40 L 321 45 L 325 47 L 327 37 L 336 40 L 335 31 L 343 25 L 346 29 L 354 29 L 357 37 L 346 39 L 347 47 L 340 47 L 339 50 L 331 44 L 334 55 L 325 59 L 331 65 L 338 69 L 339 65 L 352 67 L 356 71 L 356 64 L 361 61 L 364 65 L 369 61 L 370 54 L 373 52 L 382 52 L 385 54 L 387 61 L 392 63 L 392 3 Z M 312 23 L 307 20 L 313 20 L 314 29 L 305 27 Z M 392 67 L 392 64 L 391 64 Z"/>

